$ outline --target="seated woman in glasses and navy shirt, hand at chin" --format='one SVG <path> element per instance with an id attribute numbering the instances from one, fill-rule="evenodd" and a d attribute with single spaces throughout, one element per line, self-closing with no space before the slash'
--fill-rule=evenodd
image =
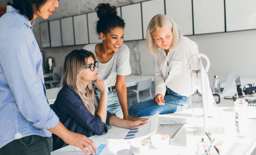
<path id="1" fill-rule="evenodd" d="M 106 125 L 134 128 L 147 119 L 130 121 L 112 115 L 107 111 L 108 86 L 106 80 L 97 79 L 98 61 L 93 53 L 73 50 L 65 59 L 62 89 L 53 104 L 53 111 L 64 126 L 76 133 L 90 137 L 107 133 Z M 97 97 L 92 82 L 101 93 Z M 58 136 L 53 135 L 53 150 L 66 146 Z"/>

